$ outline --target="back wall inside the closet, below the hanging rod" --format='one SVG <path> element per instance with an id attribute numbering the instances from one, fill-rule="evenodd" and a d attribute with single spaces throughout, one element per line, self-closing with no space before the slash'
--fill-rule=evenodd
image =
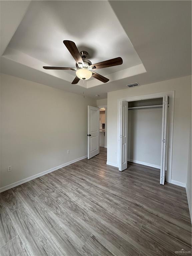
<path id="1" fill-rule="evenodd" d="M 162 108 L 129 110 L 128 159 L 159 168 L 161 131 Z"/>

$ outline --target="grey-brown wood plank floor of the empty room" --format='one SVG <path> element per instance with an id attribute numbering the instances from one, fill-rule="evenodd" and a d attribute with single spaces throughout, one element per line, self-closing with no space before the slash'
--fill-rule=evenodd
<path id="1" fill-rule="evenodd" d="M 185 189 L 106 149 L 0 194 L 1 256 L 172 256 L 191 251 Z M 191 254 L 188 254 L 191 255 Z"/>

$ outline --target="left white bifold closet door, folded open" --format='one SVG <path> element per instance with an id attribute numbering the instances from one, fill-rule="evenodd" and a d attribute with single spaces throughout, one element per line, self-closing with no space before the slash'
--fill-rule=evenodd
<path id="1" fill-rule="evenodd" d="M 127 169 L 128 102 L 121 102 L 120 165 L 119 171 Z"/>

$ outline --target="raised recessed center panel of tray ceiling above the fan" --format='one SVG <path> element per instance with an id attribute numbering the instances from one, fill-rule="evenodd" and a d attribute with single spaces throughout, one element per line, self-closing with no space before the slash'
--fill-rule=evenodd
<path id="1" fill-rule="evenodd" d="M 141 64 L 108 1 L 32 1 L 9 47 L 51 66 L 75 67 L 63 40 L 87 50 L 92 63 L 123 57 L 122 66 L 103 75 Z"/>

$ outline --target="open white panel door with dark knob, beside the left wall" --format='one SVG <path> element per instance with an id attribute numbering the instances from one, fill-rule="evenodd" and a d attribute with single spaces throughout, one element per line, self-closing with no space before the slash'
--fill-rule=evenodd
<path id="1" fill-rule="evenodd" d="M 88 159 L 99 154 L 99 108 L 88 106 Z"/>

